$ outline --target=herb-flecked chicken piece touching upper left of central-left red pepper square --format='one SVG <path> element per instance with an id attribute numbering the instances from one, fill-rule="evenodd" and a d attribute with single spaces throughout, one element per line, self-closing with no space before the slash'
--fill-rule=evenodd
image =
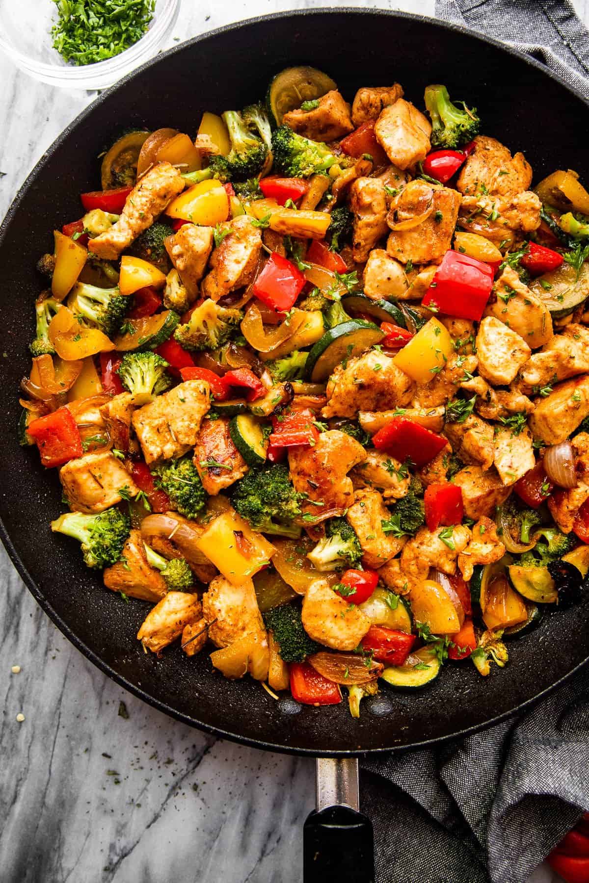
<path id="1" fill-rule="evenodd" d="M 230 232 L 212 253 L 212 269 L 201 285 L 203 296 L 215 301 L 252 282 L 261 253 L 261 230 L 248 215 L 221 224 L 221 230 Z"/>

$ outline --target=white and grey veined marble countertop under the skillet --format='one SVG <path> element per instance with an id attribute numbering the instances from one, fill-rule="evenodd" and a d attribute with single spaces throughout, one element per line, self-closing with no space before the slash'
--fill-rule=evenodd
<path id="1" fill-rule="evenodd" d="M 185 0 L 173 36 L 315 5 L 338 4 Z M 353 5 L 434 14 L 434 0 Z M 587 21 L 589 0 L 576 6 Z M 0 81 L 2 217 L 34 163 L 95 93 L 45 86 L 1 56 Z M 4 883 L 302 879 L 312 760 L 205 736 L 123 691 L 42 613 L 2 547 L 0 583 Z M 544 867 L 529 883 L 557 879 Z"/>

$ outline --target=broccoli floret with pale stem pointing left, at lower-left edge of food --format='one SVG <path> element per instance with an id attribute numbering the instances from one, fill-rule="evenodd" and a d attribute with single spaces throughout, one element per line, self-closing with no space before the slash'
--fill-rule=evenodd
<path id="1" fill-rule="evenodd" d="M 129 517 L 119 509 L 105 509 L 98 515 L 65 512 L 51 522 L 53 532 L 79 540 L 84 562 L 92 568 L 109 567 L 118 561 L 130 527 Z"/>

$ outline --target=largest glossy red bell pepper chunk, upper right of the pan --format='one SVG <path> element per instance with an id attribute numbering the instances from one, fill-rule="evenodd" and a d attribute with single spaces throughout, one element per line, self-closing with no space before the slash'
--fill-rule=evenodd
<path id="1" fill-rule="evenodd" d="M 493 287 L 493 275 L 493 268 L 482 260 L 446 252 L 421 303 L 458 319 L 480 321 Z"/>

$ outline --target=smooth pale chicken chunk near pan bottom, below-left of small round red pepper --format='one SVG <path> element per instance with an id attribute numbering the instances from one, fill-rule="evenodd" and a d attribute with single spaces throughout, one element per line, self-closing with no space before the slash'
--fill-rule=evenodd
<path id="1" fill-rule="evenodd" d="M 371 626 L 366 614 L 336 594 L 327 579 L 309 585 L 301 619 L 309 638 L 332 650 L 354 650 Z"/>

